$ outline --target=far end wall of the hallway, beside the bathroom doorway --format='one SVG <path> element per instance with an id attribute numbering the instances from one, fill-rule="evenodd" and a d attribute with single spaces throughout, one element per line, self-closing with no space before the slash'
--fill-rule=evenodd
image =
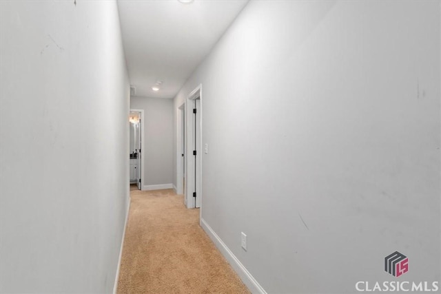
<path id="1" fill-rule="evenodd" d="M 144 109 L 145 143 L 141 148 L 142 168 L 145 177 L 141 179 L 143 189 L 171 188 L 173 177 L 173 100 L 131 97 L 130 108 Z"/>

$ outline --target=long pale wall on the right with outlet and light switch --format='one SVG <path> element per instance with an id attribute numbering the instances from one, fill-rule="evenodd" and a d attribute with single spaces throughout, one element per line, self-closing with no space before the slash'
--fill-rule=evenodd
<path id="1" fill-rule="evenodd" d="M 439 1 L 251 1 L 175 115 L 199 83 L 202 218 L 265 291 L 440 280 Z"/>

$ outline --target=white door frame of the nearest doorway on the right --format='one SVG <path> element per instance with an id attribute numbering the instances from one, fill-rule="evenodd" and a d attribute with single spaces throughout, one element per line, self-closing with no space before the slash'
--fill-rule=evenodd
<path id="1" fill-rule="evenodd" d="M 194 204 L 193 199 L 193 191 L 194 190 L 194 155 L 193 155 L 193 143 L 194 143 L 194 114 L 193 114 L 193 105 L 194 101 L 199 99 L 199 146 L 198 154 L 196 156 L 199 157 L 199 165 L 196 167 L 196 205 Z M 202 84 L 199 84 L 185 99 L 185 202 L 187 204 L 187 208 L 196 208 L 200 207 L 202 212 L 202 200 L 203 200 L 203 191 L 202 191 L 202 161 L 203 161 L 203 99 L 202 99 Z M 197 122 L 196 122 L 197 123 Z"/>

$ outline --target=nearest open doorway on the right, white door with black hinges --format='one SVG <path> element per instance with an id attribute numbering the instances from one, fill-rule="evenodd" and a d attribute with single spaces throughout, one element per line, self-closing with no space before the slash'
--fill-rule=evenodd
<path id="1" fill-rule="evenodd" d="M 185 101 L 185 201 L 187 208 L 202 204 L 202 85 Z"/>

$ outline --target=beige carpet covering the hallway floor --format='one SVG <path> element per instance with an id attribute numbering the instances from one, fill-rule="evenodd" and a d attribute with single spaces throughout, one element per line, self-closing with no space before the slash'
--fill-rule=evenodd
<path id="1" fill-rule="evenodd" d="M 250 293 L 172 189 L 130 191 L 118 293 Z"/>

